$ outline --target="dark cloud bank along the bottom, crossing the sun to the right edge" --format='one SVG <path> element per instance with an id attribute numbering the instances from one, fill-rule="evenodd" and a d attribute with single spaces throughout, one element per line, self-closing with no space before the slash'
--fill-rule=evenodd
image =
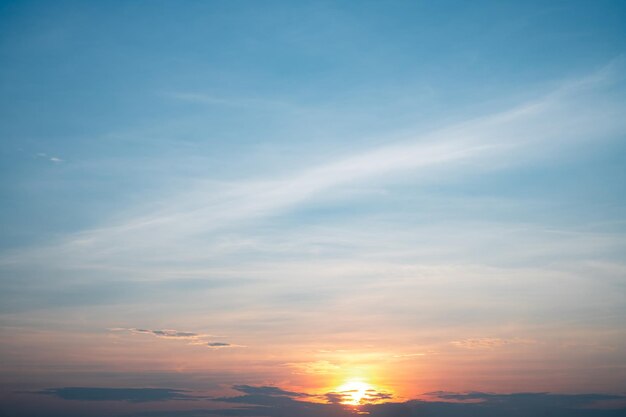
<path id="1" fill-rule="evenodd" d="M 238 404 L 235 408 L 195 409 L 181 411 L 143 412 L 136 416 L 249 416 L 249 417 L 617 417 L 626 412 L 626 396 L 611 394 L 549 394 L 549 393 L 429 393 L 431 400 L 390 402 L 387 394 L 372 393 L 380 403 L 358 407 L 340 404 L 339 393 L 326 394 L 327 403 L 307 401 L 303 393 L 284 391 L 277 387 L 238 385 L 243 396 L 223 397 L 219 402 Z"/>

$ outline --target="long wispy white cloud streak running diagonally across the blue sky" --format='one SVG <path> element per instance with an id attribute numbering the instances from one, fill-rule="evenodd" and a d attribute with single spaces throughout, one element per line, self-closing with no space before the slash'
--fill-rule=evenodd
<path id="1" fill-rule="evenodd" d="M 152 209 L 129 210 L 145 214 L 68 235 L 50 246 L 26 250 L 22 256 L 12 253 L 3 261 L 32 265 L 36 260 L 72 259 L 80 265 L 116 268 L 137 259 L 144 260 L 144 265 L 150 259 L 205 259 L 214 251 L 194 239 L 206 243 L 203 239 L 218 230 L 332 199 L 341 187 L 368 186 L 372 181 L 384 184 L 407 175 L 422 182 L 440 178 L 442 172 L 462 175 L 468 170 L 502 169 L 577 141 L 614 137 L 626 131 L 626 122 L 619 117 L 623 101 L 606 93 L 611 83 L 618 82 L 618 73 L 619 68 L 609 66 L 507 111 L 282 176 L 254 176 L 231 183 L 194 181 L 183 187 L 185 192 L 151 201 Z M 177 242 L 188 243 L 177 246 Z"/>

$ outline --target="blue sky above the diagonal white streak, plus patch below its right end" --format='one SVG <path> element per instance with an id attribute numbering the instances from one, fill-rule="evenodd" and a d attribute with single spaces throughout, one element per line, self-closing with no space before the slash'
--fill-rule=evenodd
<path id="1" fill-rule="evenodd" d="M 621 1 L 2 2 L 1 244 L 510 107 L 619 58 L 625 16 Z M 620 217 L 623 154 L 456 192 L 561 192 Z"/>

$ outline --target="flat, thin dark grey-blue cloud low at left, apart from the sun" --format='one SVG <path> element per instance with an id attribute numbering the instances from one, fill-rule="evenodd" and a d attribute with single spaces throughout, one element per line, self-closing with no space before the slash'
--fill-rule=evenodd
<path id="1" fill-rule="evenodd" d="M 76 401 L 169 401 L 195 400 L 197 397 L 186 394 L 185 390 L 170 388 L 92 388 L 63 387 L 49 388 L 39 394 L 53 395 L 64 400 Z"/>

